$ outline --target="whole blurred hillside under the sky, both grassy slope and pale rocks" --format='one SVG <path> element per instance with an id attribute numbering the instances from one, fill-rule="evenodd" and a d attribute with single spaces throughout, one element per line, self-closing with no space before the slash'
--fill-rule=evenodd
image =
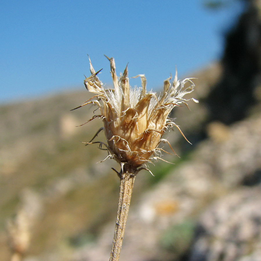
<path id="1" fill-rule="evenodd" d="M 182 258 L 189 258 L 188 249 L 196 249 L 200 240 L 205 240 L 205 251 L 215 251 L 218 248 L 211 242 L 220 235 L 215 234 L 213 224 L 204 223 L 204 215 L 219 215 L 211 212 L 211 207 L 215 209 L 212 204 L 228 202 L 231 207 L 219 209 L 228 208 L 231 215 L 233 202 L 242 204 L 239 211 L 244 215 L 244 199 L 260 208 L 256 196 L 260 193 L 260 103 L 251 107 L 247 118 L 230 126 L 209 123 L 205 100 L 221 75 L 220 64 L 189 75 L 197 78 L 193 97 L 200 103 L 190 103 L 190 110 L 175 108 L 173 117 L 193 146 L 173 129 L 166 137 L 180 158 L 163 158 L 175 165 L 157 162 L 150 166 L 154 177 L 146 171 L 137 176 L 122 260 L 189 260 Z M 83 87 L 82 92 L 0 107 L 1 260 L 10 260 L 6 228 L 11 218 L 16 224 L 24 222 L 24 231 L 20 231 L 23 244 L 30 242 L 26 261 L 108 259 L 119 193 L 119 180 L 111 167 L 119 166 L 112 160 L 96 164 L 107 156 L 106 151 L 81 143 L 88 142 L 102 126 L 95 119 L 75 127 L 90 119 L 95 107 L 70 110 L 89 97 Z M 104 140 L 104 134 L 96 139 Z M 229 211 L 224 216 L 230 215 Z M 249 217 L 246 224 L 252 224 L 251 213 L 244 215 Z M 25 216 L 30 221 L 24 220 Z M 259 212 L 254 217 L 261 220 Z M 222 220 L 217 222 L 226 228 Z M 234 225 L 240 226 L 236 222 Z M 199 233 L 200 227 L 204 230 Z M 253 227 L 259 231 L 260 224 Z M 214 232 L 206 233 L 207 229 Z M 258 242 L 261 232 L 252 235 L 252 230 L 247 231 L 245 254 L 254 255 L 258 248 L 249 247 L 249 242 Z M 221 241 L 226 245 L 226 239 Z M 197 260 L 194 252 L 191 260 Z"/>

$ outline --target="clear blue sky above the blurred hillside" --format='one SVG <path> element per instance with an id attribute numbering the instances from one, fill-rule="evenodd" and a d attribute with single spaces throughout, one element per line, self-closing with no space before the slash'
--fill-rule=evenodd
<path id="1" fill-rule="evenodd" d="M 240 1 L 211 11 L 203 0 L 12 1 L 0 3 L 0 103 L 83 88 L 88 57 L 99 79 L 145 74 L 148 89 L 220 58 L 224 32 L 242 10 Z M 192 74 L 191 74 L 192 73 Z M 132 79 L 131 85 L 140 80 Z"/>

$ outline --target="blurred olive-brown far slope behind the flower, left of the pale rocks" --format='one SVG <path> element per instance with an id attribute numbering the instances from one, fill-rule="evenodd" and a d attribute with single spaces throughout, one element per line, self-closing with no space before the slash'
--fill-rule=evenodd
<path id="1" fill-rule="evenodd" d="M 208 81 L 213 82 L 218 77 L 219 66 L 213 65 L 206 72 Z M 194 96 L 200 99 L 207 89 L 198 84 Z M 26 257 L 50 253 L 68 256 L 67 251 L 74 253 L 96 242 L 106 223 L 114 223 L 119 180 L 111 167 L 118 166 L 112 160 L 96 164 L 107 156 L 106 151 L 82 143 L 88 142 L 102 123 L 97 119 L 75 127 L 90 119 L 95 107 L 70 111 L 89 97 L 83 87 L 78 93 L 0 107 L 0 254 L 4 261 L 11 255 L 6 233 L 10 220 L 18 227 L 24 223 L 23 233 L 19 233 L 27 238 L 27 243 L 19 242 L 22 245 L 19 247 L 28 248 Z M 191 111 L 178 108 L 175 115 L 188 135 L 197 132 L 206 114 L 203 104 L 195 107 L 196 110 L 194 107 L 191 103 Z M 180 147 L 183 137 L 178 130 L 166 136 L 181 158 L 166 155 L 164 159 L 176 162 L 176 168 L 188 152 Z M 97 139 L 104 140 L 103 133 Z M 158 162 L 151 167 L 155 177 L 146 171 L 140 173 L 132 198 L 133 208 L 140 195 L 164 179 L 171 169 L 173 165 Z"/>

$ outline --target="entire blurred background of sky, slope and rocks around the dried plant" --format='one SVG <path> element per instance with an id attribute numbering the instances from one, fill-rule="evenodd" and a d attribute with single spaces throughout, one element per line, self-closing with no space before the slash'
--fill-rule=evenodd
<path id="1" fill-rule="evenodd" d="M 121 260 L 261 260 L 261 1 L 2 1 L 0 256 L 108 260 L 119 178 L 83 124 L 99 79 L 195 77 L 199 104 L 176 107 L 167 132 L 180 156 L 137 175 Z M 141 86 L 139 79 L 130 79 Z M 104 140 L 100 133 L 97 138 Z"/>

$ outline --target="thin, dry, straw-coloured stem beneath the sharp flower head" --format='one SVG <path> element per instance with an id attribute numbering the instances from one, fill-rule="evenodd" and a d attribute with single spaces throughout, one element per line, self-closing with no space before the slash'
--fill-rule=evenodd
<path id="1" fill-rule="evenodd" d="M 124 166 L 125 167 L 125 166 Z M 113 238 L 113 246 L 110 253 L 109 261 L 118 261 L 122 248 L 124 230 L 126 226 L 128 211 L 131 202 L 131 193 L 135 180 L 135 170 L 132 168 L 124 168 L 124 171 L 118 173 L 121 179 L 121 189 L 119 195 L 119 208 Z"/>

